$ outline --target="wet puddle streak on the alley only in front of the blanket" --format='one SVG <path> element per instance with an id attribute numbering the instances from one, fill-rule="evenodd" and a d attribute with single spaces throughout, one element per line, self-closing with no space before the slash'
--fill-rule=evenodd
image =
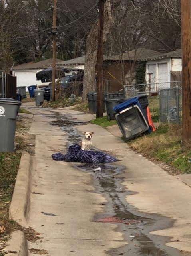
<path id="1" fill-rule="evenodd" d="M 163 237 L 155 236 L 155 241 L 153 241 L 149 238 L 152 235 L 146 235 L 148 226 L 152 230 L 154 219 L 131 213 L 125 196 L 133 192 L 127 191 L 121 185 L 123 177 L 119 176 L 123 174 L 125 167 L 116 164 L 77 164 L 75 167 L 91 173 L 96 192 L 103 194 L 107 199 L 107 203 L 103 204 L 105 205 L 104 213 L 97 214 L 94 221 L 116 223 L 119 226 L 119 231 L 123 232 L 125 241 L 128 242 L 127 246 L 111 250 L 110 255 L 180 255 L 177 250 L 164 245 L 169 240 L 168 238 L 165 240 Z M 94 170 L 99 167 L 101 171 Z"/>

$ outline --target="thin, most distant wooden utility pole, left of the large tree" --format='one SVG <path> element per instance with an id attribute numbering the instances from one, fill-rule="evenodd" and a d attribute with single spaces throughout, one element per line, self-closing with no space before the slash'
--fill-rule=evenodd
<path id="1" fill-rule="evenodd" d="M 56 78 L 56 6 L 57 0 L 54 1 L 53 8 L 53 26 L 52 26 L 52 101 L 55 101 L 55 78 Z"/>

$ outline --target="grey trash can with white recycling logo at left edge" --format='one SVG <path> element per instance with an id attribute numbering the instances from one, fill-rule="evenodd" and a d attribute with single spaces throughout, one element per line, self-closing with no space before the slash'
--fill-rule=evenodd
<path id="1" fill-rule="evenodd" d="M 0 152 L 13 152 L 16 116 L 21 102 L 11 98 L 0 98 Z"/>

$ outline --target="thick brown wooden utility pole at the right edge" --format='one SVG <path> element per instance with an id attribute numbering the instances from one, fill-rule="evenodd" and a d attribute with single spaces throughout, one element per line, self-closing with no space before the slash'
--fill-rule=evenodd
<path id="1" fill-rule="evenodd" d="M 191 0 L 181 0 L 183 145 L 191 140 Z"/>

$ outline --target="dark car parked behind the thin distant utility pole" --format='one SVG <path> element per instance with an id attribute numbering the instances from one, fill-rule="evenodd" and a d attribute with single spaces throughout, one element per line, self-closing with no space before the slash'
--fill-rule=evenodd
<path id="1" fill-rule="evenodd" d="M 75 91 L 78 91 L 79 94 L 82 94 L 83 78 L 84 78 L 83 74 L 66 75 L 65 77 L 62 77 L 60 79 L 60 91 L 62 92 L 62 94 L 66 94 L 68 97 L 70 97 L 70 94 L 72 93 L 75 94 Z M 49 87 L 44 89 L 44 99 L 48 101 L 50 100 L 51 86 L 52 86 L 52 83 L 50 83 Z M 56 84 L 55 91 L 57 90 L 58 90 L 58 83 Z"/>

